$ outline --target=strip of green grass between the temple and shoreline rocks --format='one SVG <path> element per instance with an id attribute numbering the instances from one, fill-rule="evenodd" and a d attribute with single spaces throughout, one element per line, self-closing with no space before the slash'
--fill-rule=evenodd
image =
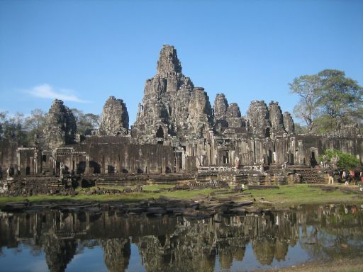
<path id="1" fill-rule="evenodd" d="M 77 196 L 28 196 L 28 197 L 0 197 L 0 206 L 5 205 L 9 201 L 23 201 L 29 200 L 32 202 L 41 201 L 123 201 L 123 202 L 137 202 L 147 198 L 159 198 L 160 196 L 167 196 L 169 198 L 177 199 L 197 199 L 206 200 L 208 196 L 213 198 L 230 198 L 234 201 L 253 200 L 257 203 L 259 200 L 267 200 L 275 206 L 298 205 L 298 204 L 323 204 L 323 203 L 363 203 L 363 193 L 358 188 L 350 186 L 347 188 L 344 185 L 337 185 L 333 190 L 326 191 L 331 188 L 329 186 L 308 186 L 306 184 L 298 184 L 291 186 L 280 186 L 278 189 L 264 189 L 264 190 L 246 190 L 251 193 L 251 196 L 242 196 L 238 193 L 221 193 L 220 189 L 196 189 L 196 190 L 182 190 L 182 191 L 162 191 L 163 189 L 172 186 L 165 185 L 149 185 L 144 189 L 147 193 L 121 193 L 121 194 L 104 194 L 104 195 L 88 195 L 85 191 L 79 190 Z M 113 187 L 108 187 L 113 188 Z M 117 188 L 123 189 L 123 188 Z M 350 189 L 350 191 L 348 191 Z M 160 192 L 161 190 L 161 192 Z"/>

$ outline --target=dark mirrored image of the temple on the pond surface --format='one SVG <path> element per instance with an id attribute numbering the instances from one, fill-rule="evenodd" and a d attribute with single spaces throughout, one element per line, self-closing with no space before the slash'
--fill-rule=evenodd
<path id="1" fill-rule="evenodd" d="M 284 261 L 289 246 L 298 241 L 309 244 L 314 239 L 310 247 L 304 245 L 311 254 L 342 254 L 331 249 L 337 239 L 321 233 L 318 236 L 318 232 L 335 234 L 340 242 L 347 241 L 347 237 L 350 241 L 363 239 L 362 211 L 354 206 L 216 215 L 205 220 L 91 210 L 0 216 L 0 246 L 16 247 L 21 241 L 30 248 L 42 249 L 50 271 L 65 271 L 86 241 L 101 246 L 108 271 L 128 268 L 131 243 L 138 246 L 146 271 L 214 271 L 217 259 L 221 269 L 230 268 L 233 261 L 242 261 L 248 244 L 252 244 L 259 263 L 270 265 L 274 260 Z M 350 248 L 359 251 L 354 244 Z"/>

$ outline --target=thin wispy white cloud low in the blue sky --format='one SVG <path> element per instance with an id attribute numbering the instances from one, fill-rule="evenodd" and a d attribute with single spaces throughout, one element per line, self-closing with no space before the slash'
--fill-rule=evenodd
<path id="1" fill-rule="evenodd" d="M 78 98 L 73 90 L 69 89 L 57 89 L 49 84 L 42 84 L 30 89 L 29 94 L 39 98 L 52 98 L 60 99 L 62 101 L 73 101 L 79 103 L 87 103 L 89 101 L 84 101 Z"/>

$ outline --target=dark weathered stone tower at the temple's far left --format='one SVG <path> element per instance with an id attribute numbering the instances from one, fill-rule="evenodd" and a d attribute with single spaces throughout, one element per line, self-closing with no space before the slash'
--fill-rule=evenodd
<path id="1" fill-rule="evenodd" d="M 77 124 L 72 111 L 62 100 L 55 99 L 48 112 L 43 131 L 44 144 L 51 149 L 73 144 L 76 132 Z"/>

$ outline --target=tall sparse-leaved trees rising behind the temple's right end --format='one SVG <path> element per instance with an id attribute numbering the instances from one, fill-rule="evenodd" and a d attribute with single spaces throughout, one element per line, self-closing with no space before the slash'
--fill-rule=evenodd
<path id="1" fill-rule="evenodd" d="M 325 69 L 298 77 L 289 86 L 301 97 L 294 113 L 305 121 L 309 133 L 333 132 L 347 124 L 362 126 L 363 89 L 345 72 Z"/>

